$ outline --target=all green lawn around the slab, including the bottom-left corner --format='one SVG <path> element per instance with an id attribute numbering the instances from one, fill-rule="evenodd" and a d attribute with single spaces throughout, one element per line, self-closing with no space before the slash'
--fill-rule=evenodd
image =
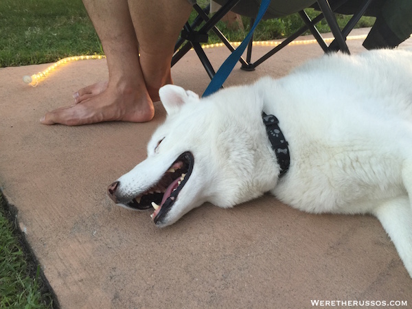
<path id="1" fill-rule="evenodd" d="M 199 0 L 204 5 L 208 0 Z M 318 13 L 308 10 L 311 18 Z M 194 14 L 192 14 L 193 19 Z M 348 16 L 337 16 L 341 25 Z M 1 0 L 0 1 L 0 68 L 56 62 L 76 55 L 103 54 L 100 40 L 93 29 L 81 0 Z M 231 41 L 242 41 L 249 28 L 229 31 L 218 27 Z M 363 18 L 358 27 L 370 27 L 372 18 Z M 283 19 L 262 21 L 255 40 L 283 38 L 303 25 L 297 14 Z M 328 32 L 324 23 L 321 32 Z M 209 43 L 218 38 L 211 35 Z M 12 219 L 12 220 L 10 220 Z M 52 308 L 52 295 L 39 275 L 40 268 L 23 250 L 24 242 L 14 217 L 5 207 L 0 193 L 0 308 Z"/>

